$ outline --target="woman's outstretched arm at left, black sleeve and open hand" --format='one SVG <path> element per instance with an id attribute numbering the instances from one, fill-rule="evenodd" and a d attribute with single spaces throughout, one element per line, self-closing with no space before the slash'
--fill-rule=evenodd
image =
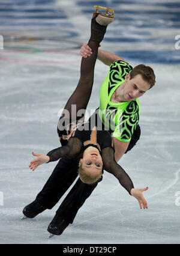
<path id="1" fill-rule="evenodd" d="M 60 159 L 61 157 L 74 157 L 76 154 L 80 153 L 82 146 L 82 142 L 78 138 L 71 138 L 68 141 L 68 144 L 59 148 L 55 148 L 49 153 L 46 154 L 35 154 L 32 153 L 33 156 L 37 156 L 34 160 L 31 161 L 29 168 L 34 171 L 39 165 L 43 163 L 49 163 Z"/>

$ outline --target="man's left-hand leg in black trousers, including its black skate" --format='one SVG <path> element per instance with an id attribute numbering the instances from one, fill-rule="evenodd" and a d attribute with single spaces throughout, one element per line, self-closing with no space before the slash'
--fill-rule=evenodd
<path id="1" fill-rule="evenodd" d="M 44 210 L 52 209 L 76 180 L 78 164 L 79 159 L 60 159 L 35 201 L 23 209 L 23 215 L 34 218 Z"/>

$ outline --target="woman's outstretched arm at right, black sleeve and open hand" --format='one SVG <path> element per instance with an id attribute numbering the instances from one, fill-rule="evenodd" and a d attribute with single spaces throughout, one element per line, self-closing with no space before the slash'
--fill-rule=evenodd
<path id="1" fill-rule="evenodd" d="M 148 187 L 145 189 L 135 189 L 133 185 L 133 181 L 128 176 L 128 174 L 124 171 L 124 169 L 118 165 L 115 161 L 114 151 L 113 148 L 107 147 L 102 150 L 102 159 L 103 159 L 103 168 L 115 175 L 118 178 L 119 183 L 129 192 L 130 195 L 135 197 L 139 202 L 140 209 L 148 209 L 148 204 L 143 197 L 143 191 L 147 190 Z"/>

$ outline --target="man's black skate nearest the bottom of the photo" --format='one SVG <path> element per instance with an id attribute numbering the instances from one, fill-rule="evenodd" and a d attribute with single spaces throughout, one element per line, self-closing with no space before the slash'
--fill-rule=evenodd
<path id="1" fill-rule="evenodd" d="M 62 234 L 62 232 L 65 230 L 65 228 L 67 228 L 69 225 L 68 222 L 66 222 L 64 219 L 62 219 L 61 216 L 55 215 L 55 217 L 53 218 L 52 222 L 50 222 L 47 231 L 49 231 L 49 233 L 59 236 Z M 52 235 L 49 236 L 49 238 L 52 237 Z"/>

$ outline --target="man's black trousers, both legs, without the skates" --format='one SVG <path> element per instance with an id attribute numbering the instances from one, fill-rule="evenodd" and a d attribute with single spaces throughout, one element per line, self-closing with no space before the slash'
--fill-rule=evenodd
<path id="1" fill-rule="evenodd" d="M 125 153 L 136 145 L 139 138 L 140 127 L 137 126 Z M 69 189 L 71 184 L 73 184 L 74 180 L 76 180 L 78 164 L 79 159 L 68 159 L 65 157 L 60 159 L 36 199 L 40 201 L 43 206 L 47 207 L 47 209 L 52 209 L 52 207 L 58 203 L 62 195 Z M 92 191 L 97 187 L 97 184 L 102 178 L 103 177 L 94 184 L 83 183 L 80 178 L 78 178 L 56 213 L 61 215 L 67 222 L 73 223 L 78 210 L 83 206 L 86 199 L 92 194 Z"/>

